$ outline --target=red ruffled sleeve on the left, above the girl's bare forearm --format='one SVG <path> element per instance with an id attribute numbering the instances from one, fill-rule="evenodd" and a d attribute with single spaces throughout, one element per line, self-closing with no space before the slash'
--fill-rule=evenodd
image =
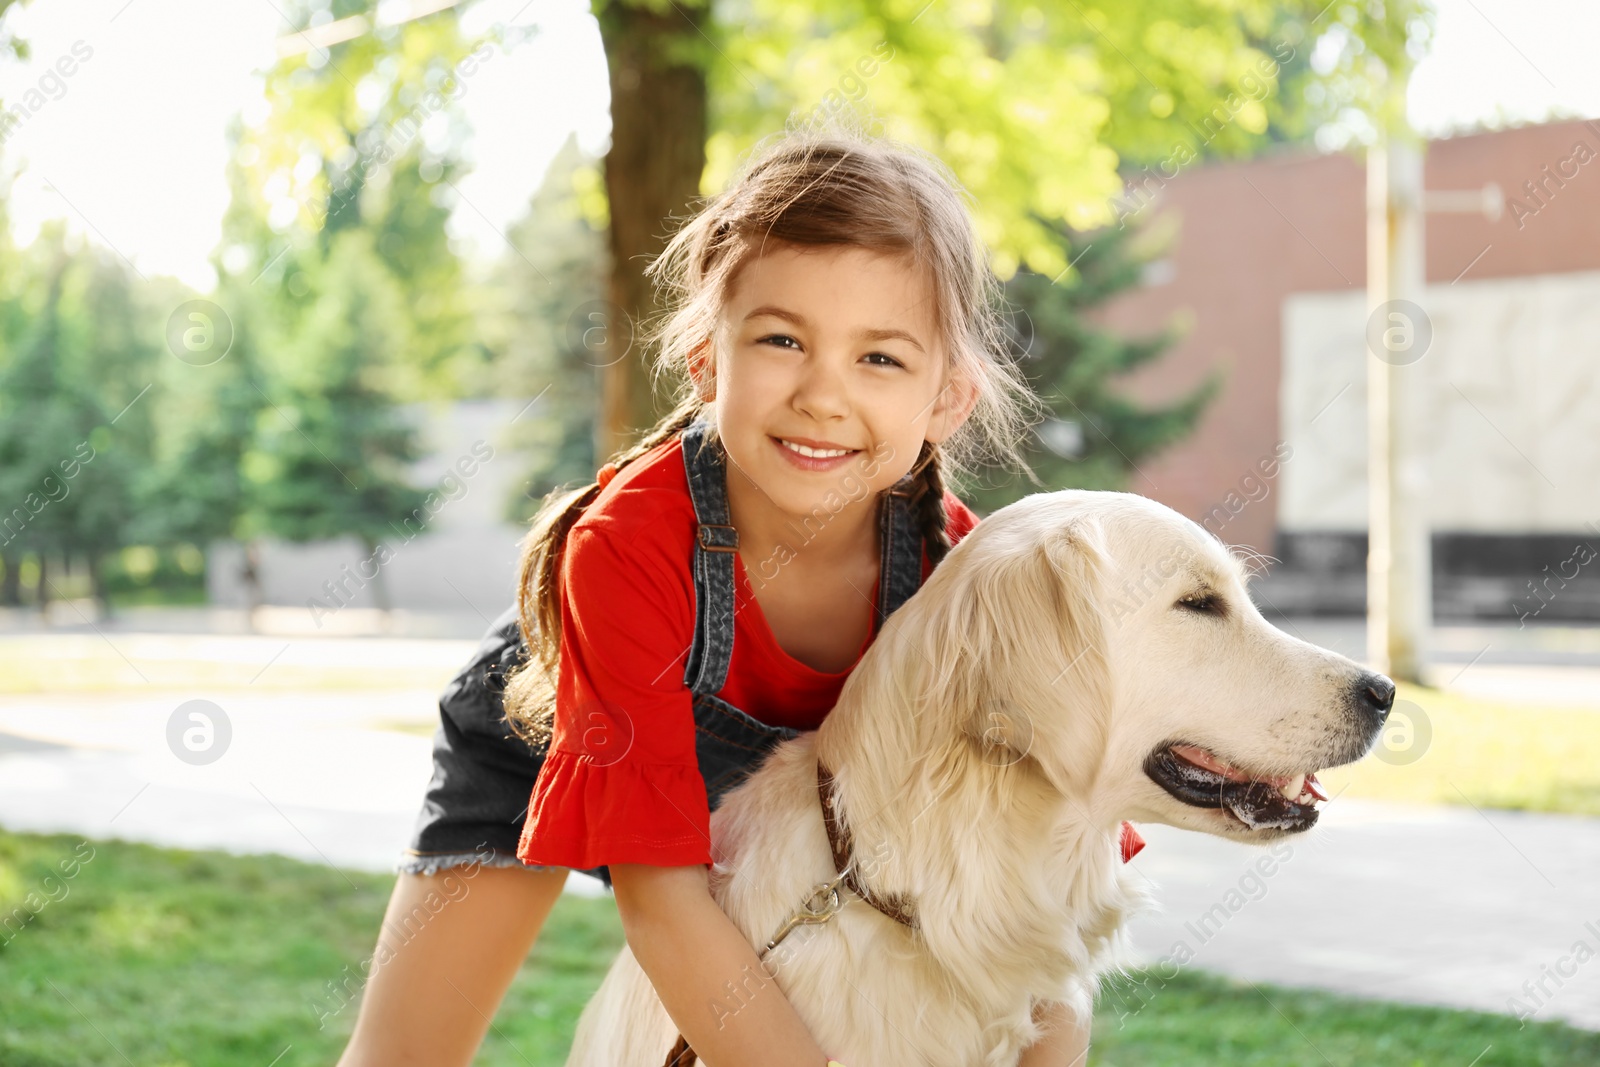
<path id="1" fill-rule="evenodd" d="M 710 862 L 683 685 L 693 585 L 661 530 L 568 534 L 555 721 L 517 846 L 525 864 Z"/>

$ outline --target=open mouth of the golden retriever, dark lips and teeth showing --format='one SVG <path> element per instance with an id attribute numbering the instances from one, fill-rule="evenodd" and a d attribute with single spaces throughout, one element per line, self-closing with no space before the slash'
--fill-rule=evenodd
<path id="1" fill-rule="evenodd" d="M 1192 744 L 1162 745 L 1146 757 L 1144 773 L 1186 805 L 1218 808 L 1250 830 L 1309 830 L 1317 801 L 1328 798 L 1315 771 L 1251 774 Z"/>

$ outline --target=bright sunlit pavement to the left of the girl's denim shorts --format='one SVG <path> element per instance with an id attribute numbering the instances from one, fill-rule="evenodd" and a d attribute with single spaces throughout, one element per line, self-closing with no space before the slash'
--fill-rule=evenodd
<path id="1" fill-rule="evenodd" d="M 394 870 L 432 774 L 437 691 L 222 696 L 232 737 L 202 766 L 168 747 L 184 699 L 0 697 L 0 825 Z"/>

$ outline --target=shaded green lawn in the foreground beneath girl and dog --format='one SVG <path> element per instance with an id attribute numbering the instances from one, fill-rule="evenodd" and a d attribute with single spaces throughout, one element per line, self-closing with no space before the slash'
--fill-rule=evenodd
<path id="1" fill-rule="evenodd" d="M 326 1029 L 317 1006 L 330 1003 L 326 984 L 371 952 L 389 877 L 94 841 L 93 859 L 62 878 L 59 864 L 78 846 L 77 837 L 0 832 L 0 921 L 19 905 L 27 912 L 29 893 L 56 897 L 0 933 L 0 942 L 10 937 L 0 947 L 0 1064 L 338 1059 L 355 1005 Z M 578 1011 L 619 944 L 611 901 L 563 897 L 477 1062 L 562 1064 Z M 1486 1046 L 1475 1067 L 1600 1064 L 1600 1035 L 1558 1024 L 1518 1030 L 1509 1016 L 1258 992 L 1206 974 L 1165 984 L 1150 976 L 1131 995 L 1109 985 L 1101 1001 L 1093 1067 L 1467 1067 Z"/>

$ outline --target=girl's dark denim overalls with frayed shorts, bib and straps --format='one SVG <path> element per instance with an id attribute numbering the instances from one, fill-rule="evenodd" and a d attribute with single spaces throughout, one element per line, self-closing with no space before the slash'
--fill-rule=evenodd
<path id="1" fill-rule="evenodd" d="M 726 453 L 706 445 L 709 426 L 683 430 L 683 467 L 698 518 L 694 542 L 694 640 L 683 685 L 693 694 L 694 750 L 712 811 L 781 741 L 798 736 L 768 726 L 717 696 L 733 657 L 734 553 L 739 536 L 728 515 Z M 922 534 L 909 507 L 907 475 L 880 498 L 878 576 L 874 633 L 922 585 Z M 429 782 L 398 870 L 432 873 L 469 862 L 522 867 L 517 835 L 546 749 L 510 733 L 502 691 L 506 675 L 528 657 L 512 605 L 490 625 L 472 661 L 440 697 Z M 611 883 L 605 867 L 586 869 Z"/>

